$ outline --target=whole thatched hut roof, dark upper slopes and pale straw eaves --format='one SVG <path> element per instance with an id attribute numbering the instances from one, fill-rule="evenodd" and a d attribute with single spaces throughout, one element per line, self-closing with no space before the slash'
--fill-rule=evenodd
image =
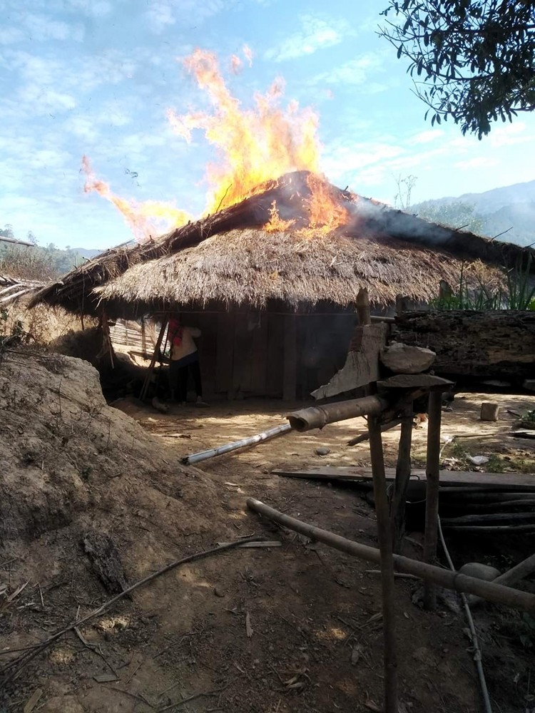
<path id="1" fill-rule="evenodd" d="M 463 261 L 514 267 L 533 251 L 451 230 L 323 183 L 350 212 L 348 225 L 302 237 L 307 225 L 308 174 L 287 174 L 250 198 L 157 240 L 108 250 L 42 289 L 38 302 L 94 314 L 167 309 L 180 304 L 248 303 L 278 299 L 297 307 L 322 300 L 347 305 L 360 287 L 375 303 L 401 292 L 436 296 L 439 282 L 455 284 Z M 276 201 L 291 232 L 267 232 Z M 535 261 L 534 261 L 535 266 Z M 535 268 L 534 268 L 535 269 Z M 486 278 L 489 277 L 487 273 Z"/>

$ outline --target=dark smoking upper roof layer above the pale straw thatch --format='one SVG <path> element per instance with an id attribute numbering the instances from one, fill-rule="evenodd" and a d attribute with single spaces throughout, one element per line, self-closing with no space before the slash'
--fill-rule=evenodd
<path id="1" fill-rule="evenodd" d="M 264 240 L 272 240 L 265 230 L 270 221 L 273 203 L 282 220 L 293 220 L 290 233 L 307 227 L 307 201 L 310 200 L 310 177 L 313 176 L 332 200 L 347 210 L 348 220 L 332 230 L 329 235 L 315 235 L 312 240 L 327 245 L 333 236 L 357 239 L 365 235 L 367 242 L 362 242 L 362 250 L 370 252 L 372 242 L 384 239 L 395 240 L 397 250 L 417 252 L 432 250 L 449 255 L 456 260 L 481 260 L 496 267 L 514 267 L 519 259 L 526 255 L 535 257 L 533 250 L 521 248 L 505 242 L 493 242 L 472 233 L 452 230 L 441 225 L 427 222 L 422 218 L 396 210 L 370 198 L 363 198 L 347 190 L 330 184 L 324 178 L 308 171 L 287 173 L 276 180 L 270 180 L 258 186 L 251 195 L 228 208 L 215 212 L 195 222 L 177 227 L 170 232 L 134 245 L 107 250 L 101 255 L 71 270 L 61 280 L 46 285 L 34 295 L 30 306 L 39 302 L 61 304 L 72 312 L 95 314 L 98 299 L 93 289 L 103 287 L 111 280 L 121 277 L 127 270 L 147 261 L 158 260 L 168 255 L 178 255 L 184 250 L 200 245 L 209 237 L 215 237 L 235 230 L 261 230 Z M 273 234 L 271 234 L 273 235 Z M 311 245 L 312 245 L 311 240 Z M 213 241 L 210 241 L 213 243 Z M 224 245 L 223 245 L 224 247 Z M 373 252 L 373 251 L 372 251 Z M 372 258 L 370 252 L 370 259 Z M 374 259 L 378 259 L 375 255 Z M 432 267 L 427 265 L 427 269 Z M 535 260 L 532 270 L 535 272 Z M 416 271 L 413 279 L 418 279 Z M 335 279 L 335 275 L 331 276 Z M 103 292 L 103 290 L 99 290 Z M 104 293 L 105 294 L 105 293 Z"/>

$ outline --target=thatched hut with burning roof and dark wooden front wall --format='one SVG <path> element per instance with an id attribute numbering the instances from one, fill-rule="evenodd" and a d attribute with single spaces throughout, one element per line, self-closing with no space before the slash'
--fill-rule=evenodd
<path id="1" fill-rule="evenodd" d="M 397 294 L 427 302 L 463 265 L 488 282 L 525 252 L 300 172 L 158 240 L 105 252 L 33 304 L 116 318 L 180 311 L 203 332 L 208 393 L 291 399 L 343 364 L 360 288 L 375 307 Z"/>

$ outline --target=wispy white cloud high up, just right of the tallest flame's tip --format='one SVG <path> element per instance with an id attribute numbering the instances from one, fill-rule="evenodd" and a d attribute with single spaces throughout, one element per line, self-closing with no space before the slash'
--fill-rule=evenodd
<path id="1" fill-rule="evenodd" d="M 301 17 L 302 29 L 287 37 L 280 45 L 265 52 L 265 58 L 282 62 L 313 54 L 320 49 L 340 44 L 345 37 L 352 34 L 346 21 L 322 19 L 313 15 Z"/>

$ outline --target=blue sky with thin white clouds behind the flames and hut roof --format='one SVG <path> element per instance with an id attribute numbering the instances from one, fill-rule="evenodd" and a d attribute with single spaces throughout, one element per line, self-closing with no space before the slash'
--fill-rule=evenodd
<path id="1" fill-rule="evenodd" d="M 120 213 L 83 192 L 81 159 L 123 198 L 200 215 L 218 154 L 202 131 L 173 132 L 168 109 L 206 107 L 185 70 L 215 52 L 244 108 L 285 80 L 319 116 L 321 169 L 341 188 L 412 202 L 535 179 L 535 114 L 479 141 L 432 128 L 407 63 L 377 36 L 385 0 L 0 0 L 0 226 L 39 245 L 104 249 L 131 239 Z M 253 51 L 231 71 L 230 57 Z M 274 177 L 276 178 L 276 177 Z"/>

